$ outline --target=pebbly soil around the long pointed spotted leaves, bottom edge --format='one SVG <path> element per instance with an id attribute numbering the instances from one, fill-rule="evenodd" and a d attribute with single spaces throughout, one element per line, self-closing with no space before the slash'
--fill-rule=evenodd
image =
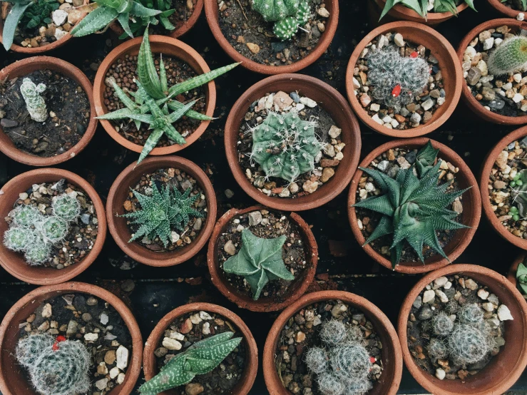
<path id="1" fill-rule="evenodd" d="M 180 350 L 169 350 L 163 347 L 163 340 L 155 350 L 157 367 L 161 369 L 175 355 L 184 352 L 188 347 L 200 340 L 207 339 L 215 334 L 234 332 L 233 338 L 242 337 L 242 333 L 232 322 L 213 312 L 188 313 L 178 317 L 170 327 L 165 330 L 165 339 L 180 339 Z M 187 387 L 201 387 L 203 391 L 194 392 L 201 395 L 232 394 L 232 389 L 242 378 L 245 370 L 245 354 L 247 344 L 242 339 L 240 345 L 234 349 L 222 363 L 206 374 L 195 376 L 193 381 L 186 386 L 178 386 L 173 391 L 175 394 L 187 395 Z"/>

